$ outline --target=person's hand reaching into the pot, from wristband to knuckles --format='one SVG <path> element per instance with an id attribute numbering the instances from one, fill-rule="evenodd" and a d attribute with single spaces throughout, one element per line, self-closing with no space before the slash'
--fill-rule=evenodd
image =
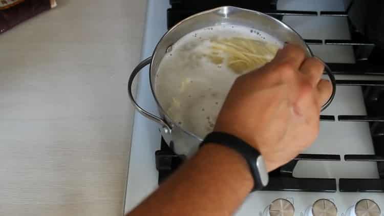
<path id="1" fill-rule="evenodd" d="M 238 77 L 214 131 L 237 136 L 262 154 L 267 170 L 286 164 L 317 137 L 332 85 L 323 63 L 286 45 L 264 67 Z"/>

